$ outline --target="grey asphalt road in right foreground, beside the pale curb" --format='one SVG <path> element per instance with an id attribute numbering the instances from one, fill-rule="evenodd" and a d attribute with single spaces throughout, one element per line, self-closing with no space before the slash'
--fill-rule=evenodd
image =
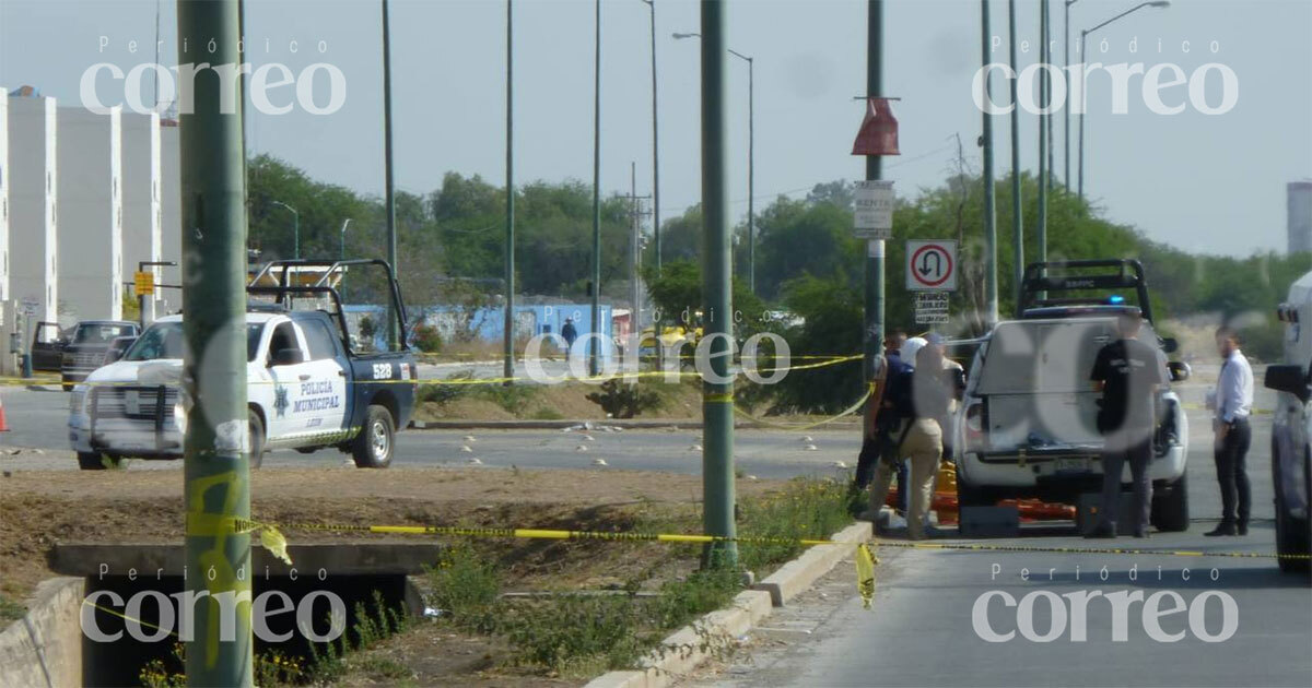
<path id="1" fill-rule="evenodd" d="M 1185 389 L 1197 401 L 1202 385 Z M 1258 406 L 1271 401 L 1260 393 Z M 1220 510 L 1210 456 L 1206 411 L 1190 413 L 1190 510 L 1183 533 L 1153 533 L 1149 540 L 1082 540 L 1069 527 L 1033 528 L 1022 537 L 988 540 L 997 546 L 1143 548 L 1274 553 L 1270 473 L 1270 415 L 1254 418 L 1249 477 L 1254 523 L 1246 537 L 1204 537 Z M 950 539 L 946 543 L 967 543 Z M 890 533 L 897 539 L 897 531 Z M 970 541 L 981 544 L 981 541 Z M 695 685 L 1312 685 L 1312 588 L 1307 577 L 1282 574 L 1270 558 L 1073 554 L 1022 552 L 942 552 L 883 548 L 871 609 L 855 595 L 850 564 L 840 565 L 796 604 L 778 609 L 749 636 L 748 650 Z M 1102 567 L 1107 578 L 1102 579 Z M 1158 569 L 1160 567 L 1160 569 Z M 1185 573 L 1187 569 L 1187 573 Z M 1027 579 L 1022 578 L 1027 570 Z M 1135 570 L 1136 579 L 1130 579 Z M 1160 573 L 1158 573 L 1160 570 Z M 1160 575 L 1160 578 L 1158 578 Z M 1185 577 L 1189 577 L 1186 581 Z M 1215 577 L 1215 579 L 1214 579 Z M 975 607 L 983 595 L 1001 591 L 1008 607 L 989 598 L 976 632 Z M 1160 617 L 1161 632 L 1182 633 L 1173 642 L 1155 640 L 1144 624 L 1144 604 L 1130 602 L 1118 624 L 1109 594 L 1148 599 L 1164 592 L 1161 611 L 1173 608 L 1170 592 L 1189 612 Z M 1233 600 L 1233 634 L 1227 637 L 1224 598 Z M 1101 596 L 1092 596 L 1101 592 Z M 1086 617 L 1063 595 L 1090 595 Z M 1031 611 L 1021 600 L 1031 596 Z M 1055 612 L 1052 602 L 1060 604 Z M 1198 609 L 1198 611 L 1195 611 Z M 1198 628 L 1191 622 L 1199 615 Z M 1026 637 L 1022 621 L 1033 629 Z M 1059 624 L 1054 625 L 1054 617 Z M 1064 617 L 1064 619 L 1063 619 Z M 1123 638 L 1115 636 L 1118 625 Z M 1073 640 L 1076 628 L 1084 640 Z M 1055 630 L 1052 630 L 1055 629 Z M 1009 640 L 985 641 L 988 632 Z M 1054 633 L 1054 640 L 1042 642 Z M 1012 636 L 1008 636 L 1008 634 Z M 1204 638 L 1212 637 L 1215 642 Z M 1038 640 L 1031 640 L 1038 638 Z"/>

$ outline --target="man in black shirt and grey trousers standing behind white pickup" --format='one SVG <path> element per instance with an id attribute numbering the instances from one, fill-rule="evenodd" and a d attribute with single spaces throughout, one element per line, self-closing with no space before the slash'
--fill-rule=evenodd
<path id="1" fill-rule="evenodd" d="M 1098 409 L 1098 432 L 1102 448 L 1102 505 L 1098 524 L 1085 537 L 1115 537 L 1117 512 L 1120 505 L 1122 467 L 1130 464 L 1134 480 L 1131 520 L 1135 537 L 1148 537 L 1152 506 L 1152 435 L 1157 426 L 1153 398 L 1158 385 L 1166 383 L 1166 363 L 1161 351 L 1135 337 L 1140 315 L 1128 308 L 1117 317 L 1120 335 L 1098 351 L 1093 363 L 1093 389 L 1102 392 Z"/>

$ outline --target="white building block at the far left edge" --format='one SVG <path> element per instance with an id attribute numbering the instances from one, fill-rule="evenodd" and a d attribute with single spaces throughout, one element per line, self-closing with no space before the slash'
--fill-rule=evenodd
<path id="1" fill-rule="evenodd" d="M 55 100 L 9 97 L 9 297 L 35 304 L 35 320 L 59 308 Z"/>

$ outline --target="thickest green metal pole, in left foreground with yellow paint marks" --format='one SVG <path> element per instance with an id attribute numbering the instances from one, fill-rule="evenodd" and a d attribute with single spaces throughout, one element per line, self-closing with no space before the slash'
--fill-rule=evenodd
<path id="1" fill-rule="evenodd" d="M 178 48 L 215 46 L 206 60 L 236 67 L 237 3 L 180 0 Z M 245 360 L 245 159 L 243 107 L 214 69 L 193 80 L 193 113 L 181 117 L 182 309 L 188 411 L 182 440 L 186 510 L 185 587 L 197 595 L 186 642 L 188 685 L 252 684 L 251 536 L 231 519 L 251 516 Z M 185 88 L 185 86 L 184 86 Z M 203 266 L 205 269 L 198 269 Z M 203 366 L 202 366 L 203 362 Z M 205 595 L 205 596 L 201 596 Z M 231 598 L 231 599 L 226 599 Z M 220 600 L 227 604 L 220 605 Z M 232 615 L 220 624 L 227 609 Z M 234 619 L 235 617 L 235 619 Z M 234 622 L 235 621 L 235 622 Z M 232 634 L 222 637 L 222 629 Z"/>

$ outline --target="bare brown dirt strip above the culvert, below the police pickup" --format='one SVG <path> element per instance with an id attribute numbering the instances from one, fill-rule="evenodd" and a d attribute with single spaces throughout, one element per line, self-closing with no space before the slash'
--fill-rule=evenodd
<path id="1" fill-rule="evenodd" d="M 743 482 L 749 497 L 778 486 Z M 55 543 L 180 543 L 180 470 L 13 470 L 0 477 L 0 594 L 22 600 L 51 571 Z M 265 469 L 252 515 L 265 522 L 625 529 L 686 514 L 697 476 L 622 470 L 391 468 Z M 383 537 L 289 531 L 295 543 Z M 396 536 L 387 536 L 396 537 Z M 623 579 L 665 556 L 661 545 L 501 543 L 526 588 Z M 652 558 L 655 557 L 655 560 Z"/>

